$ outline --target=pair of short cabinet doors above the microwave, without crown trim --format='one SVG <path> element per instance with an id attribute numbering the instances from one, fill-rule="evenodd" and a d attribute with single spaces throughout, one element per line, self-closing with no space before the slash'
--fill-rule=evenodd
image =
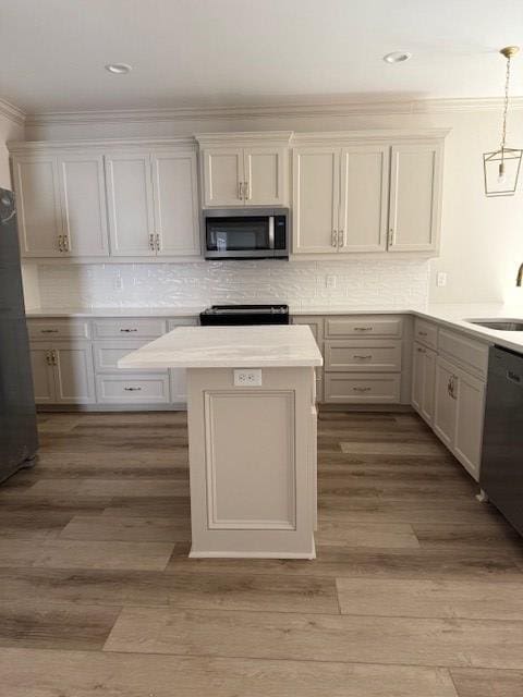
<path id="1" fill-rule="evenodd" d="M 268 145 L 205 148 L 204 206 L 283 206 L 288 157 Z"/>

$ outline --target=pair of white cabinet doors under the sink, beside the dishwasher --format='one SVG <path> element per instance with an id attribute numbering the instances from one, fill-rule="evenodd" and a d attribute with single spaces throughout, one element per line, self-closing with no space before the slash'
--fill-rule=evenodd
<path id="1" fill-rule="evenodd" d="M 483 380 L 438 356 L 434 430 L 476 481 L 482 458 L 485 393 Z"/>

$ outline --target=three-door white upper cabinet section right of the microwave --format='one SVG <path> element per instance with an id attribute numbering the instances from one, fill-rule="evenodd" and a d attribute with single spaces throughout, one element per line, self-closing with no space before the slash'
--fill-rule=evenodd
<path id="1" fill-rule="evenodd" d="M 399 145 L 321 139 L 293 148 L 294 254 L 438 252 L 442 133 Z"/>

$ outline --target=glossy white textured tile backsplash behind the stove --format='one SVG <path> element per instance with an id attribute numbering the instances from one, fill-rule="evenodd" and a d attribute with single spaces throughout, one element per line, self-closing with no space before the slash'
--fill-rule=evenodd
<path id="1" fill-rule="evenodd" d="M 48 308 L 175 308 L 276 301 L 296 307 L 423 308 L 428 297 L 429 262 L 343 259 L 98 264 L 40 266 L 38 277 L 40 303 Z"/>

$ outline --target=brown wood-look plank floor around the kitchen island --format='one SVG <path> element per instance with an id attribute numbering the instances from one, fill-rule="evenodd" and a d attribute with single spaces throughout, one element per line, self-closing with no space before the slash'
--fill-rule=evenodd
<path id="1" fill-rule="evenodd" d="M 523 546 L 411 414 L 321 412 L 315 561 L 190 560 L 186 415 L 45 414 L 0 697 L 522 697 Z"/>

